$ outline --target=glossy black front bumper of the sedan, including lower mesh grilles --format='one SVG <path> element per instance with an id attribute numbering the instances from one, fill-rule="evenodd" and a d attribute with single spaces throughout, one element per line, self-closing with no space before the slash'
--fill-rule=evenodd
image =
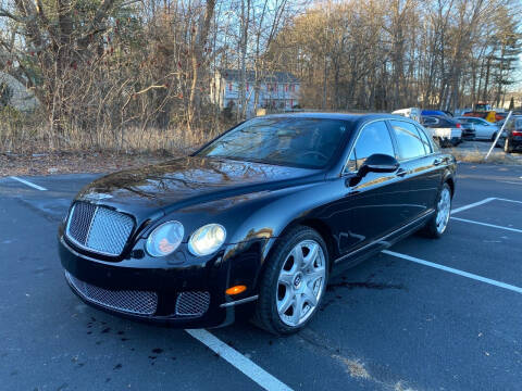
<path id="1" fill-rule="evenodd" d="M 65 278 L 85 303 L 99 310 L 148 323 L 179 328 L 219 327 L 234 321 L 237 303 L 256 298 L 257 274 L 266 240 L 233 245 L 197 263 L 177 265 L 158 258 L 107 262 L 78 253 L 59 237 Z M 238 251 L 239 250 L 239 251 Z M 229 254 L 229 255 L 228 255 Z M 225 289 L 244 283 L 249 289 L 228 297 Z M 252 299 L 253 298 L 253 299 Z"/>

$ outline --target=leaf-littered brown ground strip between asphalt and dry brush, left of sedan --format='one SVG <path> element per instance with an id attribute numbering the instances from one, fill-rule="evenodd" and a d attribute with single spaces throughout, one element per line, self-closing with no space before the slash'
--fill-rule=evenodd
<path id="1" fill-rule="evenodd" d="M 10 175 L 50 175 L 77 173 L 111 173 L 156 164 L 186 153 L 125 154 L 111 152 L 53 152 L 0 154 L 0 177 Z"/>

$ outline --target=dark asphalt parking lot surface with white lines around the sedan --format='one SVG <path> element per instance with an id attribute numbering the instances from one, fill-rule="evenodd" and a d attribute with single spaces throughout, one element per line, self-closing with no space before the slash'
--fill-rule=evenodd
<path id="1" fill-rule="evenodd" d="M 444 238 L 412 236 L 335 278 L 286 338 L 245 321 L 158 328 L 80 302 L 57 226 L 97 176 L 0 179 L 1 390 L 520 390 L 522 166 L 460 165 Z"/>

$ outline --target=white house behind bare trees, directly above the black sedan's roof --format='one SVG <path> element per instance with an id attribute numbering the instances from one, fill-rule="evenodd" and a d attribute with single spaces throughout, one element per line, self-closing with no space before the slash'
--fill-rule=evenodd
<path id="1" fill-rule="evenodd" d="M 220 109 L 237 108 L 240 98 L 239 70 L 215 72 L 210 86 L 210 99 Z M 259 76 L 258 109 L 293 109 L 299 104 L 299 79 L 288 72 L 271 72 Z M 256 100 L 256 72 L 247 71 L 245 94 L 247 112 L 252 113 Z"/>

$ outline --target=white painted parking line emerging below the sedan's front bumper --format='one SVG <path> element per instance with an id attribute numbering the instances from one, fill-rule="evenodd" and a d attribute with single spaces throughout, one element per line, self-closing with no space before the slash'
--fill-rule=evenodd
<path id="1" fill-rule="evenodd" d="M 186 329 L 185 331 L 217 353 L 222 358 L 226 360 L 263 389 L 270 391 L 291 391 L 288 386 L 277 380 L 266 370 L 254 364 L 251 360 L 245 357 L 235 349 L 228 346 L 209 331 L 204 329 Z M 216 388 L 220 387 L 216 384 Z"/>

